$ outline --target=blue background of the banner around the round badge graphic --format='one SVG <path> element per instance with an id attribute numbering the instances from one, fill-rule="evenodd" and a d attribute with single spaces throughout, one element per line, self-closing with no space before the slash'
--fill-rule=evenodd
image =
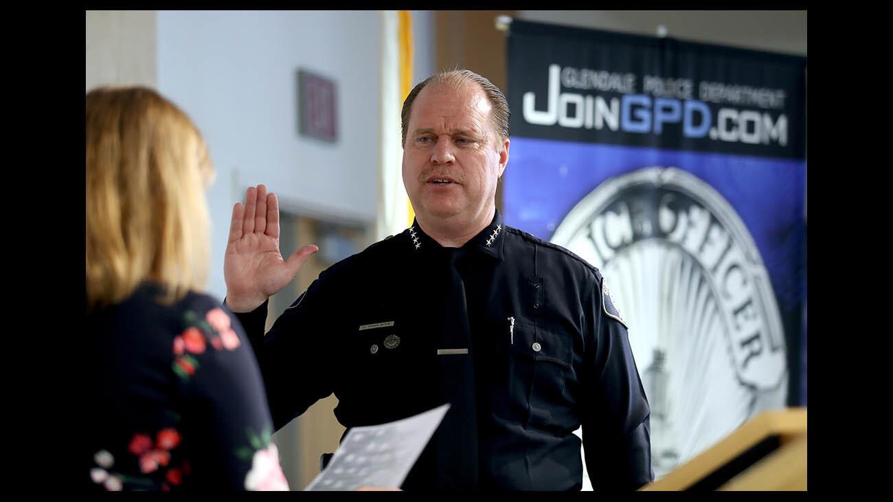
<path id="1" fill-rule="evenodd" d="M 512 138 L 510 154 L 505 222 L 546 240 L 580 199 L 609 178 L 651 166 L 694 174 L 719 192 L 747 226 L 782 316 L 802 312 L 805 161 L 534 138 Z M 805 380 L 800 401 L 805 404 Z"/>

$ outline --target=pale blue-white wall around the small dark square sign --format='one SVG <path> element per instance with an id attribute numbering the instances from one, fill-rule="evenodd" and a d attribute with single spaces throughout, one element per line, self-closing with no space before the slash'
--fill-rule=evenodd
<path id="1" fill-rule="evenodd" d="M 374 221 L 380 35 L 377 11 L 158 12 L 158 88 L 202 130 L 217 168 L 211 294 L 226 293 L 230 214 L 248 186 L 266 184 L 284 209 Z M 335 144 L 297 133 L 299 67 L 337 82 Z"/>

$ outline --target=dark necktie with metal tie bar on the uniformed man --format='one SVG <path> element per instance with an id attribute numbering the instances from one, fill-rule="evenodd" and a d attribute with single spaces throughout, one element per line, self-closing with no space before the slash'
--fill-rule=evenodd
<path id="1" fill-rule="evenodd" d="M 438 383 L 440 400 L 450 409 L 435 435 L 436 489 L 475 491 L 478 488 L 478 419 L 475 406 L 472 328 L 465 303 L 465 286 L 456 268 L 463 249 L 444 248 L 436 270 L 446 281 L 439 319 Z"/>

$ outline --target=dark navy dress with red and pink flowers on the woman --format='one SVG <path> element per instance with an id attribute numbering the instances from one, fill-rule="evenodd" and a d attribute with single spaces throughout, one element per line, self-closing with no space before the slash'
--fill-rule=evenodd
<path id="1" fill-rule="evenodd" d="M 88 314 L 88 451 L 98 490 L 288 489 L 261 373 L 212 297 L 158 305 L 146 283 Z"/>

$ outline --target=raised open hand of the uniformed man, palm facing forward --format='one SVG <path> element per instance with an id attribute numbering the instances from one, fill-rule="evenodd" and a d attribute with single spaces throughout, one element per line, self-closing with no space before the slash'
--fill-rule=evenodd
<path id="1" fill-rule="evenodd" d="M 230 239 L 223 258 L 226 304 L 233 312 L 250 312 L 285 288 L 307 258 L 319 250 L 308 244 L 288 260 L 279 248 L 279 201 L 267 188 L 249 187 L 245 205 L 232 208 Z"/>

